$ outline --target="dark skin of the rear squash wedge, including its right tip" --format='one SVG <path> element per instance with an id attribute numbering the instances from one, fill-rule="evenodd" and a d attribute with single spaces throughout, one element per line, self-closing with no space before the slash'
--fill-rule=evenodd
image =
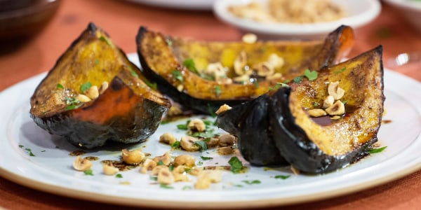
<path id="1" fill-rule="evenodd" d="M 309 69 L 322 69 L 327 66 L 334 64 L 338 59 L 342 58 L 343 56 L 347 55 L 348 52 L 340 52 L 340 48 L 344 48 L 345 45 L 352 45 L 350 43 L 341 43 L 341 34 L 344 30 L 350 30 L 349 27 L 344 25 L 332 31 L 326 38 L 325 43 L 323 44 L 323 48 L 321 48 L 321 52 L 318 54 L 318 57 L 312 58 L 314 61 L 311 66 L 307 66 Z M 242 104 L 244 102 L 248 102 L 253 97 L 246 97 L 246 98 L 236 98 L 236 99 L 229 99 L 229 100 L 222 100 L 222 99 L 199 99 L 196 97 L 192 97 L 185 92 L 178 91 L 177 87 L 174 87 L 171 83 L 169 83 L 165 78 L 159 75 L 156 71 L 152 70 L 146 62 L 145 56 L 140 50 L 140 46 L 142 45 L 143 36 L 147 33 L 146 27 L 140 27 L 138 30 L 138 34 L 136 36 L 136 43 L 138 45 L 138 57 L 140 61 L 140 65 L 142 66 L 142 73 L 148 80 L 154 81 L 157 84 L 157 89 L 159 92 L 166 94 L 168 97 L 173 99 L 175 102 L 178 102 L 182 106 L 187 109 L 192 109 L 197 113 L 203 113 L 206 115 L 214 115 L 215 111 L 217 111 L 220 106 L 224 104 L 229 104 L 229 106 L 236 106 Z M 353 33 L 351 36 L 354 36 Z M 171 38 L 171 37 L 168 37 Z M 350 38 L 349 42 L 353 41 L 353 37 Z M 163 61 L 165 62 L 165 61 Z M 182 66 L 178 66 L 178 68 L 182 68 Z M 306 68 L 302 68 L 304 71 Z M 200 90 L 197 90 L 200 91 Z"/>

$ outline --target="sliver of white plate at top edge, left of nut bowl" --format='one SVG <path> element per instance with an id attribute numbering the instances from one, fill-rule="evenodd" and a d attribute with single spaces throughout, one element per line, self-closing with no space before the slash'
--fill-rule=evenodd
<path id="1" fill-rule="evenodd" d="M 127 0 L 150 6 L 187 10 L 211 10 L 214 0 Z"/>

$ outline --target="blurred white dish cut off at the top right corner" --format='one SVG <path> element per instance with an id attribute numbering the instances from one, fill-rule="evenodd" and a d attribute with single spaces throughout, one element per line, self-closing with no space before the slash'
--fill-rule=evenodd
<path id="1" fill-rule="evenodd" d="M 384 0 L 421 33 L 421 0 Z"/>

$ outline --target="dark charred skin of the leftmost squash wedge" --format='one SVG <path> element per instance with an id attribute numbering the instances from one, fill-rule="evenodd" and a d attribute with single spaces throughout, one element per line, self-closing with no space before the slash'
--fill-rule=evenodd
<path id="1" fill-rule="evenodd" d="M 130 90 L 120 78 L 116 77 L 112 80 L 106 92 L 118 91 L 121 88 Z M 88 106 L 81 106 L 79 109 L 95 109 L 96 104 L 102 103 L 101 100 L 104 94 L 101 94 L 93 103 L 86 104 Z M 132 91 L 131 97 L 138 96 Z M 103 124 L 74 118 L 74 111 L 76 110 L 57 113 L 46 118 L 38 118 L 32 114 L 30 116 L 36 125 L 50 134 L 62 136 L 74 146 L 89 149 L 104 146 L 107 141 L 116 141 L 123 144 L 146 141 L 158 128 L 159 123 L 161 123 L 161 116 L 168 111 L 168 107 L 144 99 L 130 113 L 127 113 L 125 116 L 114 116 L 114 118 Z M 129 127 L 128 125 L 133 126 Z"/>

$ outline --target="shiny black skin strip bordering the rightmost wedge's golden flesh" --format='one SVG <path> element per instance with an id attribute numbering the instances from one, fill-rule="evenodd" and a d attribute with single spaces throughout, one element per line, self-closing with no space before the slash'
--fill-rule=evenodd
<path id="1" fill-rule="evenodd" d="M 295 125 L 295 119 L 288 106 L 290 91 L 290 87 L 282 87 L 272 95 L 269 100 L 269 112 L 273 117 L 269 119 L 269 123 L 276 137 L 274 138 L 276 148 L 291 166 L 300 169 L 300 172 L 321 174 L 346 167 L 368 155 L 368 149 L 377 141 L 377 137 L 345 155 L 323 153 L 313 141 L 309 140 L 301 127 Z"/>

